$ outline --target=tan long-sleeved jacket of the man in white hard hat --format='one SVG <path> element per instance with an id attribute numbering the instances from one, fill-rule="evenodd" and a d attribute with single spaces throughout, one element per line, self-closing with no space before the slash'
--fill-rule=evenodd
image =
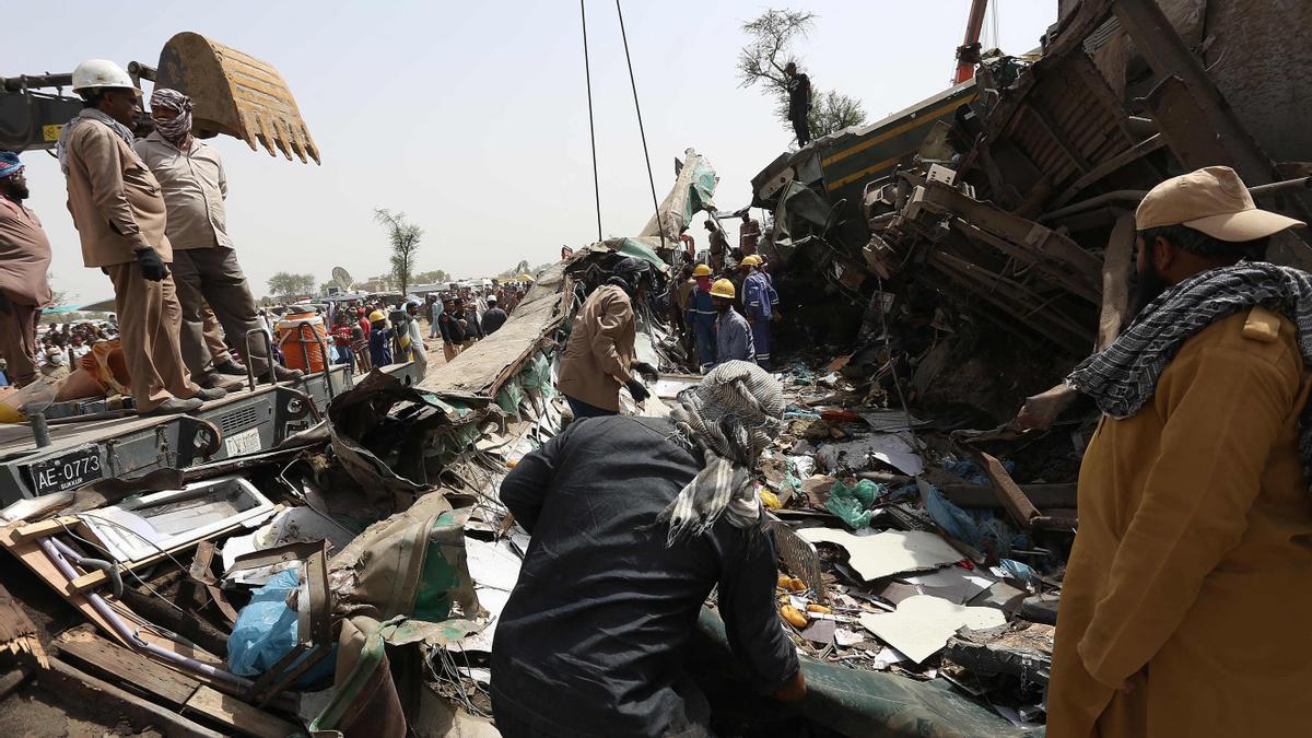
<path id="1" fill-rule="evenodd" d="M 68 135 L 67 147 L 68 211 L 81 238 L 83 263 L 127 264 L 147 247 L 173 261 L 160 184 L 127 142 L 88 119 Z"/>

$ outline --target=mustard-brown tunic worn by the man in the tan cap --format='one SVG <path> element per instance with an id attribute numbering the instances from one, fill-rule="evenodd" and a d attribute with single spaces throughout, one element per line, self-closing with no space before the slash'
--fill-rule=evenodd
<path id="1" fill-rule="evenodd" d="M 1298 735 L 1312 495 L 1298 331 L 1254 307 L 1181 347 L 1080 467 L 1048 738 Z"/>

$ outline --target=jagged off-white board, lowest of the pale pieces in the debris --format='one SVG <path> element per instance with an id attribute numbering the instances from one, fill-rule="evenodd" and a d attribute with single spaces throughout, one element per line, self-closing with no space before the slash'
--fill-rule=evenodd
<path id="1" fill-rule="evenodd" d="M 861 615 L 866 630 L 916 663 L 941 651 L 963 626 L 981 630 L 1004 624 L 1006 615 L 1000 609 L 962 607 L 930 595 L 907 597 L 897 612 Z"/>

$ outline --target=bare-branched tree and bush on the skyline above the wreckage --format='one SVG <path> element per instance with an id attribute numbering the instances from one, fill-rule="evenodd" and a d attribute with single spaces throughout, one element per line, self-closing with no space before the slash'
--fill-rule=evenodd
<path id="1" fill-rule="evenodd" d="M 789 62 L 798 62 L 792 47 L 811 32 L 816 17 L 807 11 L 770 8 L 757 18 L 743 24 L 748 43 L 739 50 L 739 85 L 765 85 L 766 93 L 775 98 L 774 116 L 783 122 L 786 130 L 792 130 L 792 118 L 789 117 L 789 79 L 783 74 L 783 67 Z M 812 100 L 815 104 L 807 113 L 811 138 L 866 121 L 866 112 L 861 108 L 861 101 L 854 97 L 830 89 L 813 95 Z"/>

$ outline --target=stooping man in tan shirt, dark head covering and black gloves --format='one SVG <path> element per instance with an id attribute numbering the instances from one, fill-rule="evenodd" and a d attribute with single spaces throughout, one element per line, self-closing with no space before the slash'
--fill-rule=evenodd
<path id="1" fill-rule="evenodd" d="M 656 376 L 656 368 L 635 361 L 634 352 L 634 303 L 651 282 L 647 269 L 642 259 L 621 259 L 606 284 L 594 289 L 575 315 L 559 382 L 575 418 L 618 415 L 621 387 L 639 403 L 651 397 L 634 376 Z"/>

